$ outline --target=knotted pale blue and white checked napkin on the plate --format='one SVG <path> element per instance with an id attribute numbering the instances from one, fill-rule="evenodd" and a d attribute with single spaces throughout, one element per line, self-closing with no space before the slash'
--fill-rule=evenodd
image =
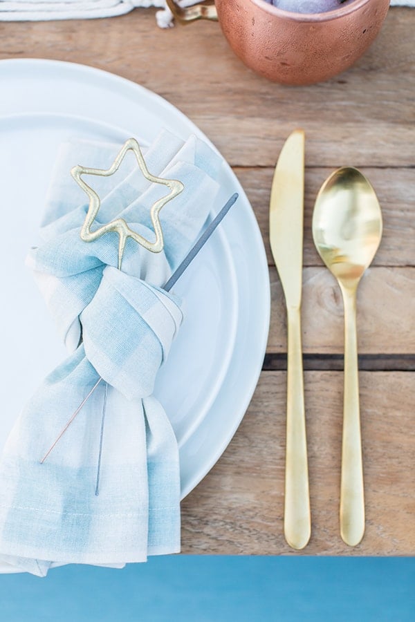
<path id="1" fill-rule="evenodd" d="M 164 251 L 129 239 L 120 271 L 116 233 L 81 240 L 87 205 L 73 209 L 85 195 L 69 174 L 78 162 L 107 169 L 117 152 L 113 145 L 64 147 L 43 241 L 28 255 L 71 351 L 24 408 L 0 462 L 0 560 L 38 575 L 51 563 L 118 566 L 180 549 L 178 447 L 151 394 L 183 318 L 163 284 L 199 236 L 222 161 L 195 137 L 183 143 L 160 135 L 145 153 L 147 168 L 185 189 L 160 212 Z M 152 239 L 149 208 L 166 188 L 149 184 L 133 158 L 129 164 L 113 189 L 111 177 L 88 178 L 101 197 L 96 225 L 120 216 Z M 100 382 L 41 464 L 99 376 L 107 384 Z"/>

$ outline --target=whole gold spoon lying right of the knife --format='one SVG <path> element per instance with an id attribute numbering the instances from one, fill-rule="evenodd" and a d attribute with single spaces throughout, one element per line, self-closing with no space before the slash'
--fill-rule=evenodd
<path id="1" fill-rule="evenodd" d="M 360 437 L 356 292 L 382 236 L 374 189 L 357 169 L 343 167 L 322 185 L 315 201 L 315 247 L 338 280 L 344 303 L 344 402 L 340 534 L 356 546 L 365 533 Z"/>

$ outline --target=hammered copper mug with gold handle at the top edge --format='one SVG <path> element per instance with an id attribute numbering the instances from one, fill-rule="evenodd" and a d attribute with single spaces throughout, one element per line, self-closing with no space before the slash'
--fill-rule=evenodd
<path id="1" fill-rule="evenodd" d="M 251 69 L 282 84 L 321 82 L 350 67 L 378 35 L 389 0 L 354 0 L 326 13 L 294 13 L 264 0 L 215 0 L 181 8 L 178 21 L 219 20 L 234 52 Z"/>

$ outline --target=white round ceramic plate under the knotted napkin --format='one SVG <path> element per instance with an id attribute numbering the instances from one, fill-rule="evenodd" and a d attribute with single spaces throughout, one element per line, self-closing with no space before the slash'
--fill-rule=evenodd
<path id="1" fill-rule="evenodd" d="M 78 137 L 121 144 L 134 136 L 146 145 L 163 128 L 184 140 L 195 133 L 210 144 L 174 106 L 115 75 L 55 61 L 0 62 L 0 451 L 26 400 L 66 356 L 24 265 L 37 241 L 57 147 Z M 226 164 L 218 209 L 234 191 L 237 204 L 175 286 L 185 299 L 186 321 L 156 386 L 178 437 L 182 497 L 234 435 L 266 348 L 270 294 L 264 245 L 248 199 Z M 9 223 L 17 235 L 8 234 Z"/>

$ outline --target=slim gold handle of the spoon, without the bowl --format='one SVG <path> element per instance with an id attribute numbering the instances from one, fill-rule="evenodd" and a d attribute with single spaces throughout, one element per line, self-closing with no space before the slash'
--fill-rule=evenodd
<path id="1" fill-rule="evenodd" d="M 356 287 L 342 286 L 344 301 L 344 402 L 340 534 L 354 547 L 365 533 L 362 440 L 360 435 Z"/>

